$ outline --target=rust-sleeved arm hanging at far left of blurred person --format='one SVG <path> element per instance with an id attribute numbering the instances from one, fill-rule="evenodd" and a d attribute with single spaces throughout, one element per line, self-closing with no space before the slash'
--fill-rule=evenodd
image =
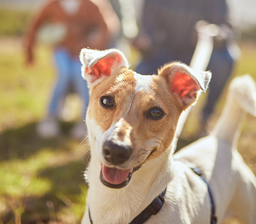
<path id="1" fill-rule="evenodd" d="M 25 47 L 25 55 L 26 55 L 26 64 L 30 65 L 34 62 L 34 45 L 35 45 L 35 37 L 38 31 L 38 28 L 48 17 L 48 9 L 51 3 L 46 4 L 41 8 L 39 12 L 35 14 L 32 18 L 28 30 L 24 37 L 24 47 Z"/>

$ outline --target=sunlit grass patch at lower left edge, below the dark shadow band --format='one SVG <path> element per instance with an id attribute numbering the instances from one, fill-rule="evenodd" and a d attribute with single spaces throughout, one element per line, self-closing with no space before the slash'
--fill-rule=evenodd
<path id="1" fill-rule="evenodd" d="M 0 163 L 0 194 L 6 196 L 43 196 L 51 189 L 51 181 L 38 178 L 38 171 L 49 166 L 53 153 L 42 150 L 28 159 Z"/>

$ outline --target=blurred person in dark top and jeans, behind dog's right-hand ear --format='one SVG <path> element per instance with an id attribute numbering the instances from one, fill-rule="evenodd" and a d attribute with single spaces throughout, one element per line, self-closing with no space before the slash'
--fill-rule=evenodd
<path id="1" fill-rule="evenodd" d="M 219 26 L 207 70 L 212 72 L 208 99 L 202 111 L 201 135 L 208 131 L 208 118 L 229 78 L 237 51 L 234 30 L 225 0 L 144 0 L 139 34 L 134 46 L 142 60 L 136 72 L 157 74 L 157 68 L 171 61 L 189 65 L 197 43 L 195 24 L 205 20 Z M 233 47 L 231 47 L 233 46 Z"/>

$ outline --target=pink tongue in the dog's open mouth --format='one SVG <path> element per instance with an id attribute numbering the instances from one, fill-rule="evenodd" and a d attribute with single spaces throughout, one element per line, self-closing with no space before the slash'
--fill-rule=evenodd
<path id="1" fill-rule="evenodd" d="M 105 165 L 102 166 L 102 175 L 103 178 L 109 182 L 109 184 L 121 184 L 128 177 L 131 169 L 129 170 L 121 170 L 117 168 L 107 167 Z"/>

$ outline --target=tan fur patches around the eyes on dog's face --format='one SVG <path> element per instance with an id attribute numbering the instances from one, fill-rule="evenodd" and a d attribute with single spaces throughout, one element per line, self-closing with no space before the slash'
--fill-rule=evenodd
<path id="1" fill-rule="evenodd" d="M 102 131 L 106 131 L 111 124 L 116 122 L 120 122 L 123 126 L 120 128 L 122 132 L 125 131 L 125 127 L 132 127 L 129 135 L 134 147 L 134 158 L 141 157 L 141 159 L 137 159 L 136 164 L 132 163 L 131 167 L 127 166 L 126 168 L 140 165 L 149 154 L 145 152 L 146 149 L 149 152 L 156 148 L 161 153 L 163 153 L 162 149 L 168 149 L 173 141 L 177 121 L 182 112 L 180 106 L 176 105 L 171 93 L 166 88 L 166 82 L 161 74 L 154 76 L 150 91 L 141 91 L 135 95 L 133 75 L 131 70 L 122 68 L 119 75 L 106 78 L 94 87 L 87 112 L 97 122 Z M 103 95 L 113 96 L 116 105 L 118 105 L 117 108 L 109 109 L 106 113 L 106 109 L 102 108 L 98 100 Z M 129 108 L 130 104 L 132 104 L 130 110 L 127 111 L 126 109 Z M 145 118 L 145 113 L 153 106 L 162 107 L 166 116 L 159 121 Z M 164 130 L 162 128 L 164 125 L 173 127 L 173 129 Z M 118 135 L 120 131 L 118 131 Z M 158 142 L 161 142 L 160 144 L 147 141 L 154 139 L 156 134 L 158 135 Z"/>

